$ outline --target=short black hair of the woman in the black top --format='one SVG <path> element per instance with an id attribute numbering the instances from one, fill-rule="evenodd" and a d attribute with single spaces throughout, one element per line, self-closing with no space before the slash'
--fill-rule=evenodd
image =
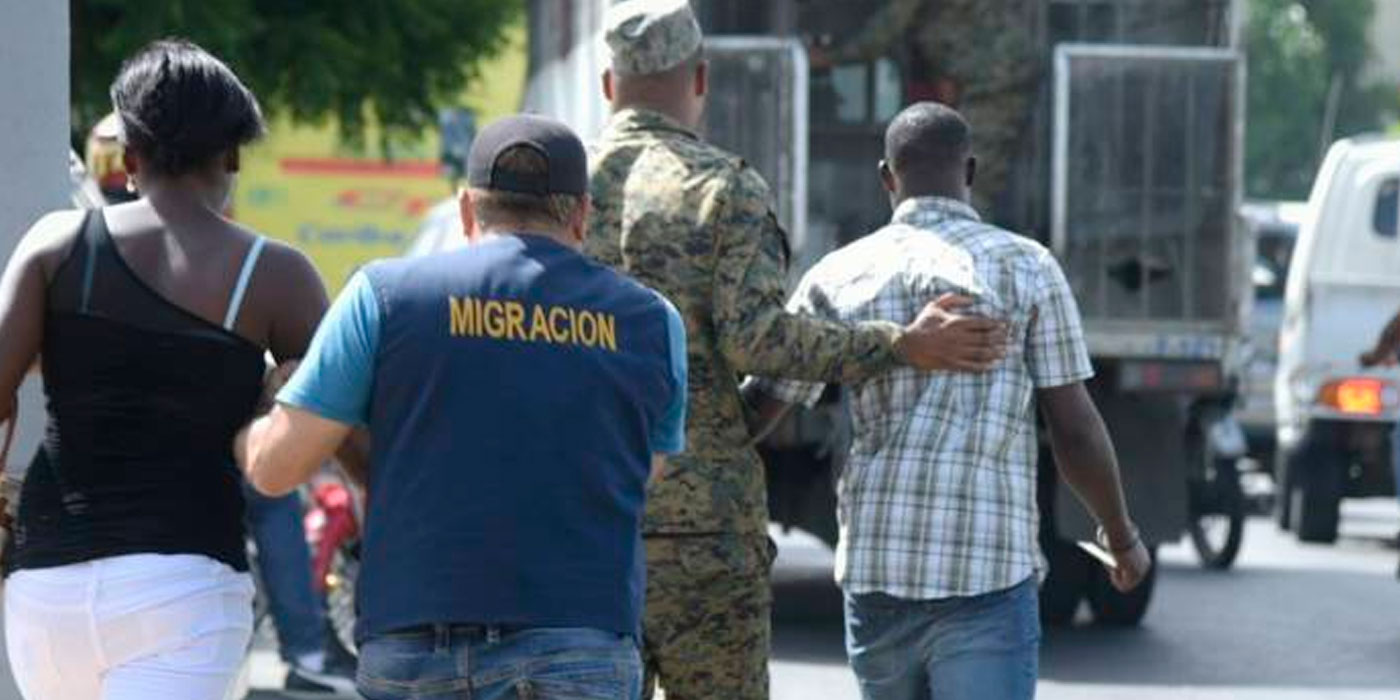
<path id="1" fill-rule="evenodd" d="M 238 76 L 183 39 L 127 59 L 111 94 L 126 146 L 162 175 L 203 168 L 263 133 L 258 99 Z"/>

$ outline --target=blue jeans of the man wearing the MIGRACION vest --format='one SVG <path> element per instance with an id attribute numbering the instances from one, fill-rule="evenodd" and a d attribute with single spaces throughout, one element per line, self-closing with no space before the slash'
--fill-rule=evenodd
<path id="1" fill-rule="evenodd" d="M 582 627 L 434 626 L 360 644 L 368 700 L 637 700 L 631 637 Z"/>

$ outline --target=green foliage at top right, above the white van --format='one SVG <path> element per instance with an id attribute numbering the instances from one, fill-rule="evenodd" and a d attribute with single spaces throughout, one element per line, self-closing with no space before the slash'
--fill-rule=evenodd
<path id="1" fill-rule="evenodd" d="M 1249 11 L 1246 192 L 1302 199 L 1324 155 L 1333 81 L 1336 137 L 1382 130 L 1400 109 L 1393 88 L 1361 84 L 1375 0 L 1250 0 Z"/>

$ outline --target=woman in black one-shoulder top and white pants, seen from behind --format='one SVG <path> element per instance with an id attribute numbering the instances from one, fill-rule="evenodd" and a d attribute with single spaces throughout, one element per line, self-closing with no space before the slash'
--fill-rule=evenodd
<path id="1" fill-rule="evenodd" d="M 221 214 L 263 130 L 227 66 L 157 42 L 112 99 L 141 199 L 43 217 L 0 280 L 0 420 L 41 356 L 49 413 L 6 556 L 11 666 L 27 700 L 221 700 L 251 633 L 232 438 L 326 294 Z"/>

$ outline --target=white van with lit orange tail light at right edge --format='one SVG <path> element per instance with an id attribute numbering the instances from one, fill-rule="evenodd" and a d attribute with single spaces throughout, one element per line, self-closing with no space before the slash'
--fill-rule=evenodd
<path id="1" fill-rule="evenodd" d="M 1359 357 L 1397 311 L 1400 140 L 1343 140 L 1303 213 L 1274 378 L 1278 517 L 1305 542 L 1337 539 L 1341 498 L 1394 493 L 1400 374 Z"/>

